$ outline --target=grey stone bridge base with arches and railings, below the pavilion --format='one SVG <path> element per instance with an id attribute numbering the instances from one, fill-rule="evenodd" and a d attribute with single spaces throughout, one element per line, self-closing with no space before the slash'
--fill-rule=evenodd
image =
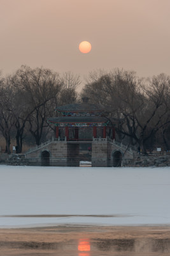
<path id="1" fill-rule="evenodd" d="M 94 138 L 92 141 L 66 141 L 52 139 L 31 148 L 25 158 L 32 165 L 80 166 L 80 144 L 91 143 L 92 166 L 124 166 L 127 159 L 133 159 L 131 148 L 109 138 Z"/>

